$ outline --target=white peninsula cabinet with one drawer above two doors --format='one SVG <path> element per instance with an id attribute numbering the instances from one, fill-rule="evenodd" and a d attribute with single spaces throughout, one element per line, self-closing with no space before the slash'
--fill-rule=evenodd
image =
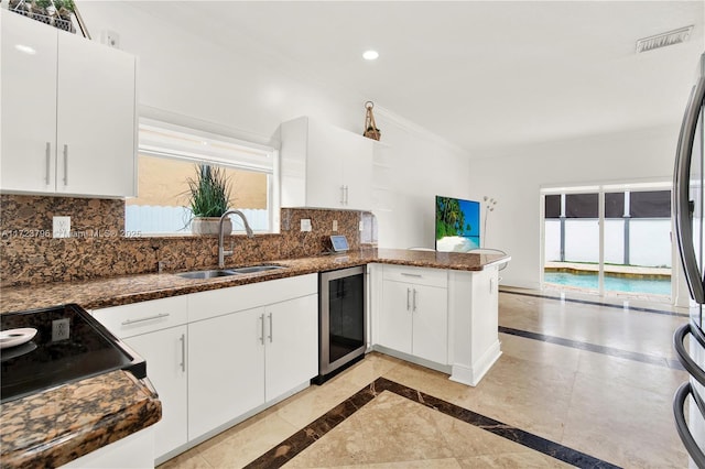
<path id="1" fill-rule="evenodd" d="M 441 364 L 448 362 L 445 271 L 383 266 L 379 345 Z"/>

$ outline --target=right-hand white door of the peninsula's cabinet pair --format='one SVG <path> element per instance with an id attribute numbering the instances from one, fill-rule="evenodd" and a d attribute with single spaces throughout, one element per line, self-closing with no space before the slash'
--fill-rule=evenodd
<path id="1" fill-rule="evenodd" d="M 413 310 L 412 353 L 436 363 L 448 362 L 447 290 L 411 285 Z"/>

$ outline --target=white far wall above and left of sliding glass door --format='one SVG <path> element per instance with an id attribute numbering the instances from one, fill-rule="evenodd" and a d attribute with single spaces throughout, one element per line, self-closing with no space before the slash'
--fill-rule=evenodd
<path id="1" fill-rule="evenodd" d="M 671 181 L 679 126 L 507 149 L 470 162 L 473 195 L 498 199 L 486 247 L 508 251 L 503 284 L 540 287 L 542 187 Z"/>

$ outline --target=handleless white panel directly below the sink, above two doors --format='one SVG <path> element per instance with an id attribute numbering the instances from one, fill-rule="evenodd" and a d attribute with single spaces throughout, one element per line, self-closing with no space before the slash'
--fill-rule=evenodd
<path id="1" fill-rule="evenodd" d="M 188 320 L 252 309 L 318 293 L 318 275 L 270 280 L 188 295 Z"/>

